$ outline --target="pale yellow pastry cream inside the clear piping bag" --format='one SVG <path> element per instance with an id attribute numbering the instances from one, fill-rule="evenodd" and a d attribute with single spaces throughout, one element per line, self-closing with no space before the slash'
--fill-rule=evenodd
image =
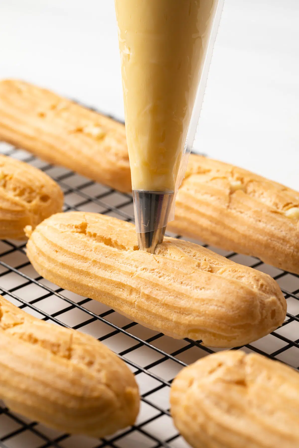
<path id="1" fill-rule="evenodd" d="M 115 0 L 133 190 L 174 190 L 217 1 Z"/>

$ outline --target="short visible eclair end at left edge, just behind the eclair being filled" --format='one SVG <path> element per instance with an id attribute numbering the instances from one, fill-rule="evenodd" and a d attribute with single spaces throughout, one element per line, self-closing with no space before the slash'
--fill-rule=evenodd
<path id="1" fill-rule="evenodd" d="M 35 228 L 62 210 L 63 193 L 51 177 L 29 164 L 0 155 L 0 239 L 25 239 L 24 227 Z"/>

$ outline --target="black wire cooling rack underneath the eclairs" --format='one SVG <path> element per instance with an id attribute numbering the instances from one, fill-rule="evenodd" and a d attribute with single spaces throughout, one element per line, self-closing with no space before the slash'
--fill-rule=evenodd
<path id="1" fill-rule="evenodd" d="M 0 142 L 0 152 L 42 169 L 58 182 L 65 194 L 65 212 L 92 211 L 133 220 L 133 201 L 129 194 L 121 194 L 65 168 L 49 165 L 7 143 Z M 25 241 L 0 241 L 0 293 L 28 313 L 95 336 L 118 353 L 136 375 L 142 396 L 141 410 L 133 427 L 105 439 L 93 439 L 53 431 L 10 412 L 0 401 L 0 447 L 188 447 L 169 415 L 169 387 L 183 366 L 215 349 L 202 346 L 200 341 L 164 336 L 132 322 L 100 302 L 59 288 L 38 275 L 26 257 L 25 248 Z M 298 369 L 299 276 L 266 265 L 257 258 L 210 248 L 277 280 L 287 301 L 285 322 L 275 332 L 242 349 L 278 359 Z"/>

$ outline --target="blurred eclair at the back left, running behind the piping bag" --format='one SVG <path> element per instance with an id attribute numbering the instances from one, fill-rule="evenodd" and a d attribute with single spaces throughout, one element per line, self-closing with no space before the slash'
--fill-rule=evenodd
<path id="1" fill-rule="evenodd" d="M 131 190 L 125 126 L 49 90 L 1 81 L 0 139 L 117 190 Z"/>

